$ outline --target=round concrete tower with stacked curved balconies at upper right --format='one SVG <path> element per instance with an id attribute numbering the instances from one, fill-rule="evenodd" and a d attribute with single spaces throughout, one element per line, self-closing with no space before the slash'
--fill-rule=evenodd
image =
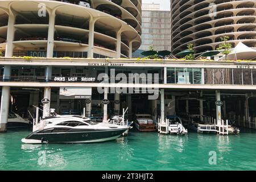
<path id="1" fill-rule="evenodd" d="M 221 37 L 229 36 L 235 47 L 239 42 L 256 47 L 256 2 L 230 0 L 171 0 L 172 52 L 195 47 L 195 53 L 215 50 Z"/>

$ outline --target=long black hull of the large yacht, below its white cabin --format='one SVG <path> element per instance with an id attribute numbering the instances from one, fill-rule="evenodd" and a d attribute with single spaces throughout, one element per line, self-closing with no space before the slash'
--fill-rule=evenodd
<path id="1" fill-rule="evenodd" d="M 22 139 L 23 143 L 92 143 L 114 140 L 127 129 L 107 131 L 69 131 L 64 133 L 40 133 L 35 131 Z"/>

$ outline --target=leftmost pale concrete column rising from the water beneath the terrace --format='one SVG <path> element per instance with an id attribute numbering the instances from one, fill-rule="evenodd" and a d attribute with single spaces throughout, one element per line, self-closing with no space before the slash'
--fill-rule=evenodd
<path id="1" fill-rule="evenodd" d="M 3 80 L 9 80 L 11 66 L 6 65 L 3 69 Z M 7 130 L 6 123 L 9 115 L 10 86 L 2 87 L 1 107 L 0 107 L 0 133 Z"/>

